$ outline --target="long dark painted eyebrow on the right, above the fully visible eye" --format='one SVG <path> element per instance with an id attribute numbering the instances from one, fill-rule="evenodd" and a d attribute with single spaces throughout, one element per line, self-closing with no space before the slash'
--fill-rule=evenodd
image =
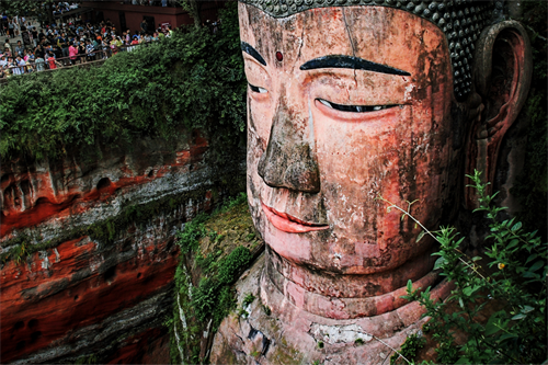
<path id="1" fill-rule="evenodd" d="M 375 64 L 363 58 L 344 55 L 329 55 L 318 57 L 300 66 L 300 69 L 304 71 L 316 70 L 319 68 L 350 68 L 354 70 L 366 70 L 388 75 L 411 76 L 411 73 L 409 72 L 399 70 L 390 66 Z"/>

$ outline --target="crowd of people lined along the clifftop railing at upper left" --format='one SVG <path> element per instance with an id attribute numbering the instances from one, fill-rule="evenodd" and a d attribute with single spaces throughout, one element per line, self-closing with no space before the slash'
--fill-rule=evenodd
<path id="1" fill-rule="evenodd" d="M 129 30 L 118 31 L 109 21 L 91 24 L 75 20 L 42 27 L 21 18 L 18 23 L 23 41 L 13 45 L 10 43 L 12 33 L 4 32 L 7 38 L 0 53 L 0 78 L 109 58 L 172 34 L 171 27 L 149 30 L 145 21 L 140 30 L 133 33 Z"/>

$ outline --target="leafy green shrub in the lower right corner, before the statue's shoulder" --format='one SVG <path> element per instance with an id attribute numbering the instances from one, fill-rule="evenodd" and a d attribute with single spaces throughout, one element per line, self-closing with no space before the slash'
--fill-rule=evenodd
<path id="1" fill-rule="evenodd" d="M 548 357 L 547 275 L 548 244 L 536 232 L 526 232 L 515 219 L 500 221 L 504 209 L 494 207 L 496 195 L 486 195 L 480 173 L 469 176 L 478 190 L 480 207 L 490 220 L 486 255 L 493 273 L 460 251 L 463 238 L 453 228 L 436 232 L 441 251 L 435 269 L 455 284 L 445 301 L 431 298 L 430 287 L 420 293 L 408 284 L 407 299 L 419 300 L 432 317 L 430 331 L 438 342 L 441 364 L 539 364 Z M 502 306 L 486 321 L 488 304 Z M 457 310 L 449 310 L 450 306 Z M 466 333 L 466 342 L 455 341 Z"/>

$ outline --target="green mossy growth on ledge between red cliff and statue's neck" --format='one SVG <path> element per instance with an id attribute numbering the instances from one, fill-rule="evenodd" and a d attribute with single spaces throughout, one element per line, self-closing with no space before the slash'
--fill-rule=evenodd
<path id="1" fill-rule="evenodd" d="M 210 221 L 219 216 L 230 216 L 235 212 L 247 210 L 247 196 L 240 194 L 228 198 L 210 216 L 199 215 L 184 226 L 178 233 L 181 246 L 181 261 L 175 272 L 175 305 L 173 321 L 168 322 L 172 335 L 172 363 L 198 364 L 206 361 L 199 356 L 199 341 L 204 331 L 217 331 L 220 322 L 236 309 L 236 297 L 231 285 L 251 263 L 252 254 L 247 247 L 238 246 L 229 252 L 217 249 L 204 254 L 201 240 L 212 244 L 224 240 L 224 236 L 212 230 Z M 250 242 L 248 240 L 248 242 Z M 196 286 L 192 286 L 191 269 L 194 275 L 201 274 Z M 252 298 L 254 299 L 254 297 Z M 248 296 L 246 300 L 252 299 Z M 244 300 L 244 301 L 246 301 Z M 250 303 L 251 303 L 250 301 Z M 184 323 L 181 324 L 181 312 Z M 179 340 L 176 340 L 179 338 Z M 180 341 L 176 343 L 176 341 Z M 183 357 L 181 358 L 181 349 Z M 197 349 L 197 350 L 196 350 Z"/>

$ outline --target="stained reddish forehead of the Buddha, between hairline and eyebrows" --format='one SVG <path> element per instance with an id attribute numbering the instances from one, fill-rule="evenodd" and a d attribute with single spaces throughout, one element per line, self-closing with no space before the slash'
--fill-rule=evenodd
<path id="1" fill-rule="evenodd" d="M 434 57 L 449 60 L 445 35 L 409 12 L 386 7 L 310 9 L 276 19 L 240 3 L 241 38 L 269 66 L 299 67 L 328 55 L 355 56 L 412 72 Z M 284 56 L 276 59 L 276 53 Z"/>

